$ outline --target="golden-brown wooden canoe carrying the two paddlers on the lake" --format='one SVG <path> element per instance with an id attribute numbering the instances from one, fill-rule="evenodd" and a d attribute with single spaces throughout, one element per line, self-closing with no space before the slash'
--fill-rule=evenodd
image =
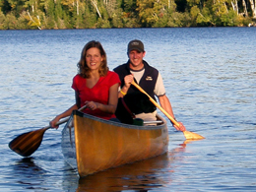
<path id="1" fill-rule="evenodd" d="M 157 125 L 128 125 L 73 111 L 62 130 L 64 159 L 80 177 L 167 152 L 166 121 Z M 147 123 L 147 122 L 146 122 Z"/>

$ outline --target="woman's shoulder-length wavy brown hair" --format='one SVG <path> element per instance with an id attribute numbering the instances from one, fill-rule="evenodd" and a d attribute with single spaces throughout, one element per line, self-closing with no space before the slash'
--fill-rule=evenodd
<path id="1" fill-rule="evenodd" d="M 105 51 L 102 47 L 102 45 L 100 44 L 100 42 L 96 41 L 96 40 L 92 40 L 90 42 L 88 42 L 81 53 L 81 59 L 78 62 L 78 73 L 83 77 L 83 78 L 90 78 L 90 68 L 87 65 L 87 61 L 86 61 L 86 56 L 87 56 L 87 51 L 90 48 L 96 47 L 98 48 L 100 55 L 102 57 L 102 61 L 100 63 L 99 69 L 98 69 L 98 73 L 100 77 L 103 77 L 106 75 L 106 73 L 108 72 L 108 67 L 107 67 L 107 62 L 106 62 L 106 54 Z"/>

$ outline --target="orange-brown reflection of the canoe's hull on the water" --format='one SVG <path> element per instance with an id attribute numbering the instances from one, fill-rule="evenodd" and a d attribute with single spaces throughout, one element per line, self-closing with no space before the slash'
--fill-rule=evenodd
<path id="1" fill-rule="evenodd" d="M 168 171 L 168 153 L 149 160 L 142 160 L 119 167 L 110 168 L 87 177 L 80 178 L 77 192 L 80 191 L 148 191 L 162 187 L 166 181 L 161 174 Z M 167 181 L 169 182 L 169 181 Z"/>

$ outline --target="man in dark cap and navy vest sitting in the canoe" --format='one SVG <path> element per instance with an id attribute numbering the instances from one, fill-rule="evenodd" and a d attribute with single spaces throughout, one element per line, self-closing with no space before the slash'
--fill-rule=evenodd
<path id="1" fill-rule="evenodd" d="M 118 96 L 121 99 L 123 98 L 123 100 L 121 101 L 121 99 L 119 99 L 118 107 L 119 105 L 125 105 L 123 108 L 131 111 L 136 118 L 142 118 L 147 121 L 157 120 L 157 107 L 149 100 L 148 96 L 140 93 L 134 86 L 131 86 L 134 81 L 155 100 L 155 96 L 158 96 L 160 106 L 175 119 L 169 99 L 165 95 L 160 72 L 143 60 L 146 55 L 143 42 L 138 39 L 131 40 L 128 43 L 127 54 L 129 58 L 127 63 L 124 63 L 113 70 L 119 75 L 121 80 Z M 119 119 L 122 119 L 120 113 L 123 110 L 118 110 L 118 107 L 116 115 Z M 181 122 L 178 122 L 178 124 L 179 126 L 172 125 L 178 131 L 186 130 Z"/>

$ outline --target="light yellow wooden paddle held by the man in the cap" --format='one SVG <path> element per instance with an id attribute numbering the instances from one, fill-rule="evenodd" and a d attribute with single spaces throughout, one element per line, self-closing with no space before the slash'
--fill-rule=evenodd
<path id="1" fill-rule="evenodd" d="M 135 86 L 140 92 L 142 92 L 143 94 L 145 94 L 146 96 L 149 96 L 138 84 L 136 84 L 134 81 L 132 82 L 132 85 Z M 179 127 L 178 122 L 172 118 L 172 116 L 170 116 L 161 106 L 158 102 L 156 102 L 156 100 L 154 98 L 152 98 L 151 96 L 149 96 L 150 100 L 155 104 L 155 106 L 157 106 L 160 111 L 165 114 L 169 120 L 176 126 Z M 187 140 L 199 140 L 199 139 L 204 139 L 203 136 L 198 135 L 196 133 L 190 132 L 190 131 L 183 131 L 183 134 L 185 136 L 185 138 Z"/>

